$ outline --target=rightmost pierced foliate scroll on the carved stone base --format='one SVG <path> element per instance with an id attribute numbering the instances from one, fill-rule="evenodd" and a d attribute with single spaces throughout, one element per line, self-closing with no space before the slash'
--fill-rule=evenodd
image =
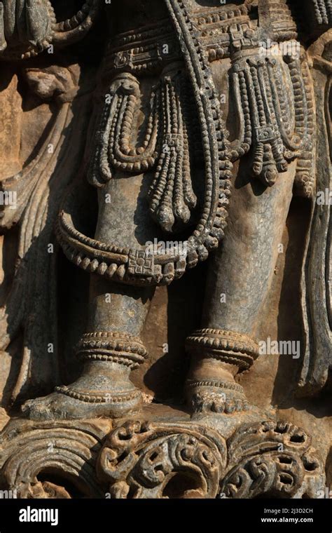
<path id="1" fill-rule="evenodd" d="M 228 440 L 228 461 L 219 497 L 317 498 L 324 487 L 310 436 L 286 422 L 241 426 Z"/>

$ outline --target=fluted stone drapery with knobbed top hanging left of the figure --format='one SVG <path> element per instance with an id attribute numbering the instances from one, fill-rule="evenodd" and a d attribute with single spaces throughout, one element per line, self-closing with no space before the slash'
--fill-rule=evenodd
<path id="1" fill-rule="evenodd" d="M 8 230 L 15 225 L 19 228 L 15 276 L 0 309 L 0 349 L 6 351 L 23 333 L 22 363 L 15 377 L 12 402 L 36 386 L 50 391 L 59 381 L 57 254 L 48 253 L 48 247 L 57 250 L 54 221 L 64 190 L 83 155 L 83 136 L 79 132 L 86 127 L 90 96 L 78 88 L 80 75 L 78 65 L 27 69 L 25 77 L 37 95 L 47 100 L 56 94 L 55 111 L 32 161 L 20 173 L 1 181 L 4 194 L 15 194 L 17 198 L 15 209 L 1 205 L 1 232 L 6 239 Z M 43 88 L 43 76 L 53 79 L 48 91 Z M 73 103 L 78 93 L 80 97 Z M 49 343 L 53 344 L 53 352 L 45 360 Z"/>

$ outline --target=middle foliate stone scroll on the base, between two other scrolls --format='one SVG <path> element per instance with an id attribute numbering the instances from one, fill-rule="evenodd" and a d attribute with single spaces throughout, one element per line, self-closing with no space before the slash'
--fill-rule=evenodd
<path id="1" fill-rule="evenodd" d="M 112 498 L 215 498 L 226 443 L 194 424 L 127 421 L 106 439 L 97 471 Z"/>

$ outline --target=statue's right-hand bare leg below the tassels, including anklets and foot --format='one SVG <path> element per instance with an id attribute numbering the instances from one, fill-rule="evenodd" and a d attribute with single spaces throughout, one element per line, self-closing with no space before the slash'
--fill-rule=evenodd
<path id="1" fill-rule="evenodd" d="M 249 408 L 235 376 L 258 356 L 254 339 L 291 202 L 292 167 L 270 189 L 237 177 L 223 247 L 209 267 L 202 329 L 187 339 L 186 391 L 194 412 Z"/>

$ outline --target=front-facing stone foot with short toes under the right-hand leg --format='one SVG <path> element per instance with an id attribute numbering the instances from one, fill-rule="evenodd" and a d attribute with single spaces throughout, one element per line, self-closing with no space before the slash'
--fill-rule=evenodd
<path id="1" fill-rule="evenodd" d="M 188 380 L 188 403 L 193 413 L 223 413 L 247 411 L 250 408 L 242 386 L 219 380 Z"/>

